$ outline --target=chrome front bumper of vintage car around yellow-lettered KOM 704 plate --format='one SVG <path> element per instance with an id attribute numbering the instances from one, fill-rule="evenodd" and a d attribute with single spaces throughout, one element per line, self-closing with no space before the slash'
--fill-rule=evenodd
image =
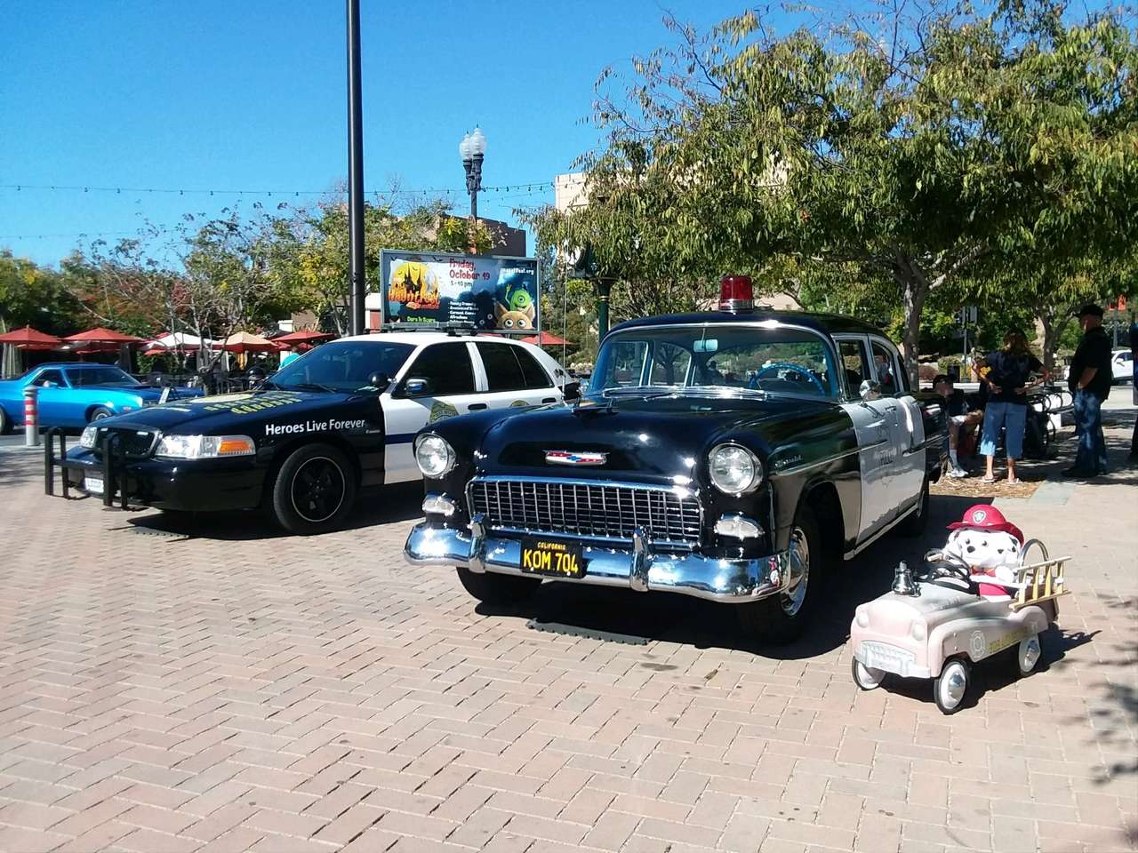
<path id="1" fill-rule="evenodd" d="M 467 533 L 426 522 L 415 524 L 407 536 L 403 554 L 413 565 L 461 565 L 473 572 L 535 577 L 521 571 L 520 541 L 488 533 L 478 519 L 470 527 Z M 628 549 L 585 546 L 585 575 L 563 580 L 569 583 L 629 587 L 642 593 L 679 593 L 712 602 L 742 604 L 781 591 L 790 579 L 787 552 L 757 560 L 653 553 L 640 533 L 634 535 L 629 546 Z"/>

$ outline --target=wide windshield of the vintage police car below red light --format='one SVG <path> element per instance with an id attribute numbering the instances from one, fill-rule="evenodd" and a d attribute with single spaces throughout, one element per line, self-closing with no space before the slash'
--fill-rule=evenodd
<path id="1" fill-rule="evenodd" d="M 774 324 L 706 323 L 618 332 L 601 347 L 588 392 L 612 395 L 621 389 L 838 397 L 826 340 Z"/>

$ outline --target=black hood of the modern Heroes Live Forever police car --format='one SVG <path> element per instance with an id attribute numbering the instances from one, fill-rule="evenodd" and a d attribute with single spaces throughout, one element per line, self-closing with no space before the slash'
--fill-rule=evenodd
<path id="1" fill-rule="evenodd" d="M 160 430 L 174 434 L 245 434 L 267 422 L 295 421 L 327 411 L 358 395 L 323 391 L 245 391 L 213 397 L 195 397 L 148 406 L 100 422 L 106 426 Z"/>

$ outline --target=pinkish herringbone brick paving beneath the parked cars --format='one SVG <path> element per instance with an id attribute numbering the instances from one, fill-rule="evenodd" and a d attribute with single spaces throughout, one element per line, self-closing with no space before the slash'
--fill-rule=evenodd
<path id="1" fill-rule="evenodd" d="M 0 452 L 0 851 L 1133 848 L 1133 471 L 1000 503 L 1074 557 L 1074 595 L 1041 670 L 989 662 L 954 717 L 923 682 L 859 693 L 846 645 L 951 498 L 925 540 L 842 566 L 818 629 L 774 653 L 666 596 L 547 585 L 479 612 L 403 562 L 417 489 L 302 539 L 39 477 Z"/>

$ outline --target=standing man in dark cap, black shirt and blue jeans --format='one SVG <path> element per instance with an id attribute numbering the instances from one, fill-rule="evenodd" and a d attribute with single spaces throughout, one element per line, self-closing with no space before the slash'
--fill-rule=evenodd
<path id="1" fill-rule="evenodd" d="M 1111 394 L 1111 341 L 1103 329 L 1103 309 L 1085 305 L 1078 314 L 1082 340 L 1071 361 L 1067 387 L 1074 395 L 1074 420 L 1079 448 L 1074 465 L 1064 477 L 1097 477 L 1106 473 L 1106 439 L 1103 437 L 1103 400 Z"/>

